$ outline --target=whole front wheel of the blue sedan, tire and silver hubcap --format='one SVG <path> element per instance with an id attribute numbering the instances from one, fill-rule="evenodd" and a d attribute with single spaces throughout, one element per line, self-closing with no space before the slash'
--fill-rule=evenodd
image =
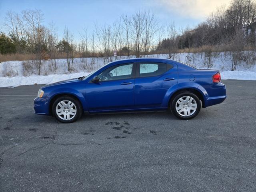
<path id="1" fill-rule="evenodd" d="M 52 114 L 62 123 L 72 123 L 82 115 L 80 102 L 70 96 L 60 96 L 52 105 Z"/>

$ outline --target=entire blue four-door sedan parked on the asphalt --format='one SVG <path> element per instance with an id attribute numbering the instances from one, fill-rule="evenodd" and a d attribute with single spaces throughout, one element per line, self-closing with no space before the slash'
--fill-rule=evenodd
<path id="1" fill-rule="evenodd" d="M 182 120 L 194 118 L 201 107 L 226 99 L 218 70 L 198 70 L 162 58 L 110 62 L 86 77 L 43 86 L 34 99 L 36 114 L 64 123 L 89 114 L 168 110 Z"/>

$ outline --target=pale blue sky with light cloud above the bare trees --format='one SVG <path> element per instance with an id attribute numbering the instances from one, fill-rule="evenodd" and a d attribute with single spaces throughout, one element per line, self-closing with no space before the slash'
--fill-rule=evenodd
<path id="1" fill-rule="evenodd" d="M 5 31 L 3 24 L 8 10 L 19 13 L 24 9 L 40 9 L 44 13 L 44 25 L 54 22 L 59 38 L 65 25 L 78 38 L 83 26 L 90 30 L 94 23 L 112 24 L 122 14 L 130 16 L 150 8 L 163 24 L 175 22 L 177 29 L 192 28 L 218 6 L 229 3 L 230 0 L 0 0 L 0 26 Z"/>

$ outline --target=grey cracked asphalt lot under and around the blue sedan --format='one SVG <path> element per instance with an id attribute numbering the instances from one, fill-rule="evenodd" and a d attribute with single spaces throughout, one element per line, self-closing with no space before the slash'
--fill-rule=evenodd
<path id="1" fill-rule="evenodd" d="M 256 81 L 192 120 L 170 112 L 34 114 L 40 85 L 0 88 L 1 192 L 256 190 Z"/>

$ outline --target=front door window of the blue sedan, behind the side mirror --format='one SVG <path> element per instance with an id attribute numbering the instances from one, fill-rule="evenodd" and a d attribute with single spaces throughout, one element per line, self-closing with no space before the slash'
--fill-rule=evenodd
<path id="1" fill-rule="evenodd" d="M 121 80 L 132 78 L 133 64 L 122 64 L 110 67 L 98 75 L 100 81 Z"/>

